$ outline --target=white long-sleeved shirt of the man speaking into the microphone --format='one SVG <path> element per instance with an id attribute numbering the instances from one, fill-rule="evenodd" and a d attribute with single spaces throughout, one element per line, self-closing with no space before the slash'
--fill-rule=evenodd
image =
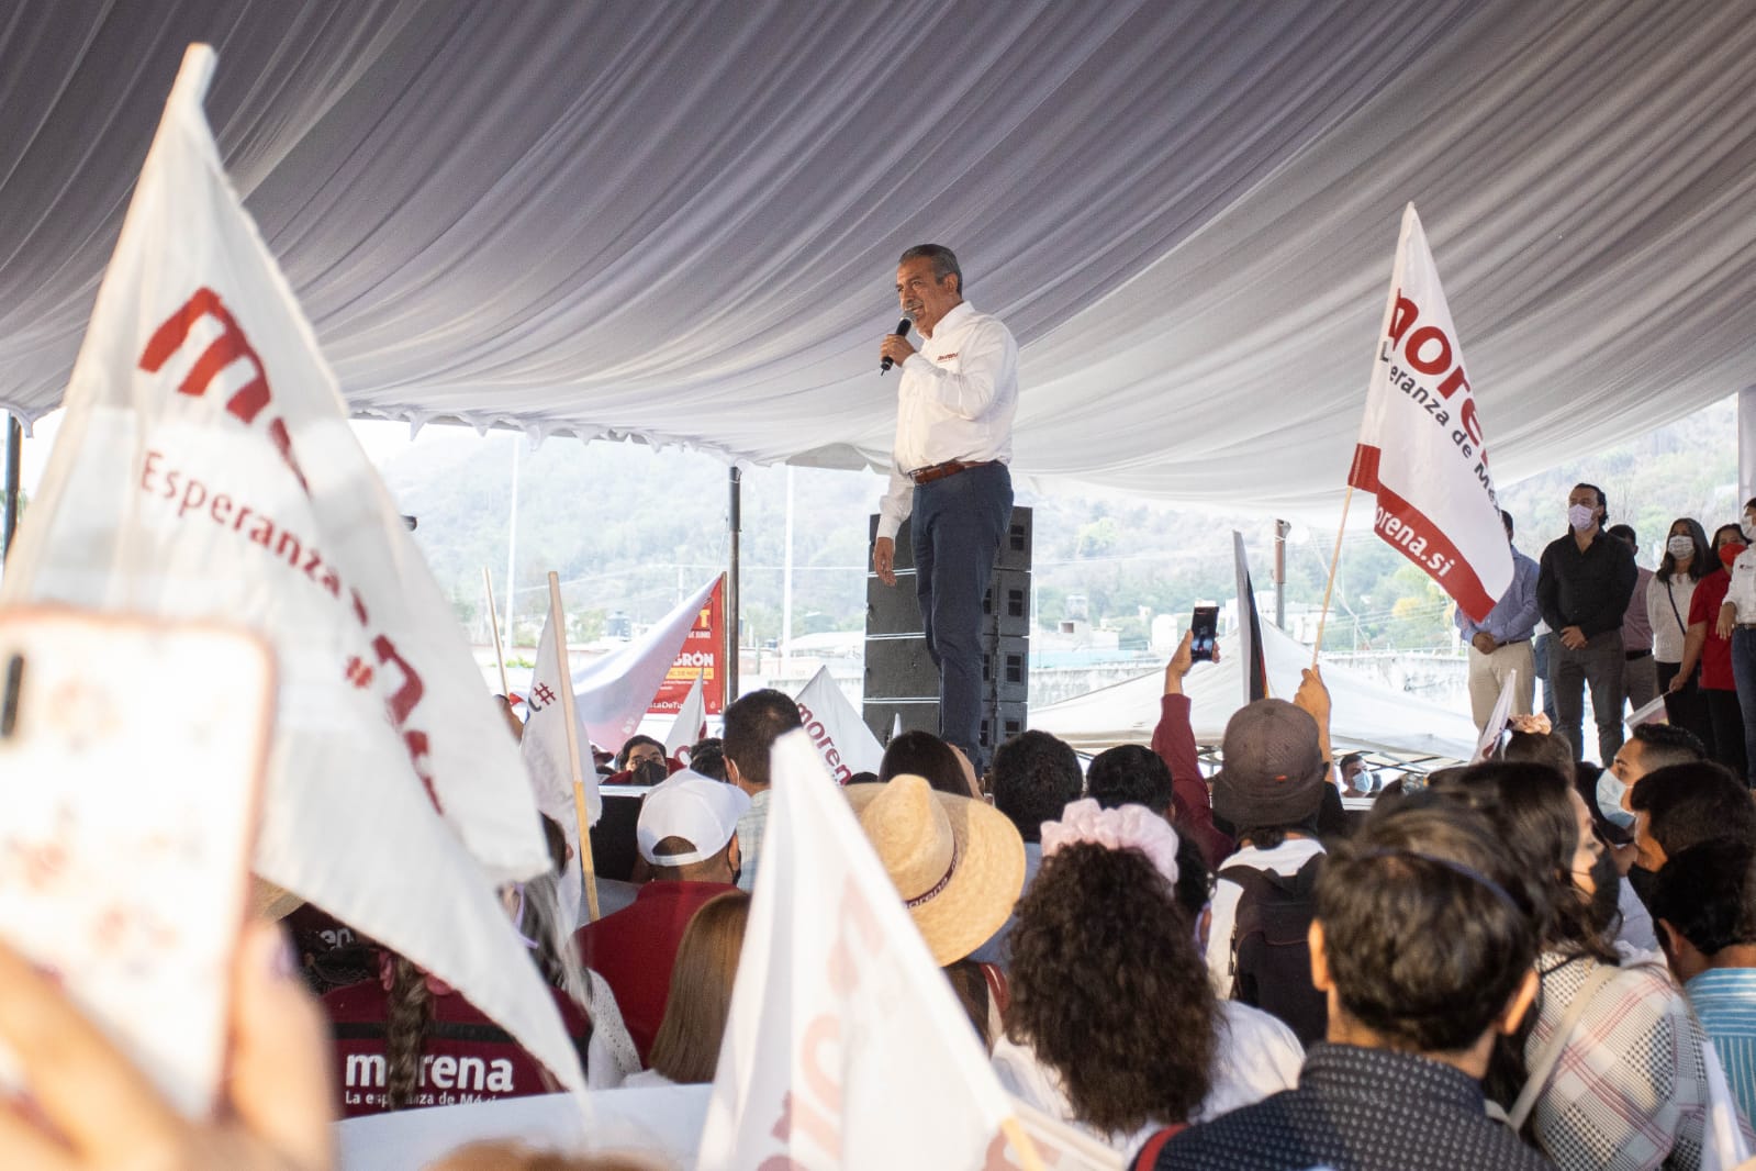
<path id="1" fill-rule="evenodd" d="M 939 318 L 901 372 L 890 488 L 878 506 L 878 535 L 892 539 L 915 506 L 908 472 L 948 460 L 1011 462 L 1018 342 L 999 318 L 966 300 Z"/>

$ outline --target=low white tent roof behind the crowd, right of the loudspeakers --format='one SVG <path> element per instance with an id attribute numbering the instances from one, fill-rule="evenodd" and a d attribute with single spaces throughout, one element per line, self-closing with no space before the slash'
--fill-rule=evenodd
<path id="1" fill-rule="evenodd" d="M 1263 651 L 1268 690 L 1278 699 L 1292 699 L 1299 672 L 1312 664 L 1312 648 L 1264 625 Z M 1452 760 L 1468 760 L 1475 753 L 1475 725 L 1465 715 L 1335 664 L 1324 664 L 1322 681 L 1329 688 L 1329 739 L 1336 751 L 1370 750 Z M 1234 655 L 1196 667 L 1184 679 L 1184 692 L 1189 695 L 1196 743 L 1219 744 L 1226 736 L 1226 722 L 1243 708 L 1243 662 Z M 1031 713 L 1031 727 L 1052 732 L 1082 751 L 1147 744 L 1159 722 L 1162 693 L 1164 672 L 1154 671 L 1038 708 Z"/>

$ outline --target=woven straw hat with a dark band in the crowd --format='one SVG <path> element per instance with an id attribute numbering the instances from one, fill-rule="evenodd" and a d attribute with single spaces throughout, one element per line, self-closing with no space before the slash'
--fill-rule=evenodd
<path id="1" fill-rule="evenodd" d="M 939 967 L 1006 922 L 1024 888 L 1024 839 L 1004 813 L 906 772 L 841 792 Z"/>

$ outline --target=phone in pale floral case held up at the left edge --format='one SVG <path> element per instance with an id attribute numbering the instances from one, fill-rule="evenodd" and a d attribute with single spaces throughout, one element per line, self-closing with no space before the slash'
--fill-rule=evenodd
<path id="1" fill-rule="evenodd" d="M 0 936 L 204 1117 L 249 892 L 270 651 L 205 623 L 21 607 L 0 611 Z"/>

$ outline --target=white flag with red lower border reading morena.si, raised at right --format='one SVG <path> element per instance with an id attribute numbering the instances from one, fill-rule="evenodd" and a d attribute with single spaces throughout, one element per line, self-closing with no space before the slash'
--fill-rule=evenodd
<path id="1" fill-rule="evenodd" d="M 1377 495 L 1375 532 L 1424 569 L 1463 613 L 1487 618 L 1512 585 L 1512 548 L 1463 346 L 1415 205 L 1403 209 L 1347 483 Z"/>

